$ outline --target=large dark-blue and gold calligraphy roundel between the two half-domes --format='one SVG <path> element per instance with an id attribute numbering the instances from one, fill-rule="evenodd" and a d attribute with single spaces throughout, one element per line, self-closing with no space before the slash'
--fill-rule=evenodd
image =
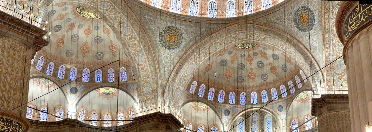
<path id="1" fill-rule="evenodd" d="M 174 50 L 182 44 L 183 35 L 181 30 L 177 27 L 168 26 L 161 30 L 159 41 L 164 48 Z"/>

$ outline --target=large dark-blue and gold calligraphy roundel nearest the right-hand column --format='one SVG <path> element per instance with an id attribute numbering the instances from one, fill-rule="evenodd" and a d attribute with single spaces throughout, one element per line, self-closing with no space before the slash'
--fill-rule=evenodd
<path id="1" fill-rule="evenodd" d="M 299 7 L 294 13 L 295 27 L 301 32 L 309 32 L 315 25 L 315 16 L 308 7 Z"/>

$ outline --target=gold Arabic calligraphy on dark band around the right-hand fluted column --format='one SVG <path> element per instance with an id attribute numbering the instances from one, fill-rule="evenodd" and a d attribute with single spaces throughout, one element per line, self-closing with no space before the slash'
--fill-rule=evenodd
<path id="1" fill-rule="evenodd" d="M 372 19 L 372 4 L 357 4 L 352 12 L 347 16 L 343 36 L 344 42 L 363 24 Z"/>

